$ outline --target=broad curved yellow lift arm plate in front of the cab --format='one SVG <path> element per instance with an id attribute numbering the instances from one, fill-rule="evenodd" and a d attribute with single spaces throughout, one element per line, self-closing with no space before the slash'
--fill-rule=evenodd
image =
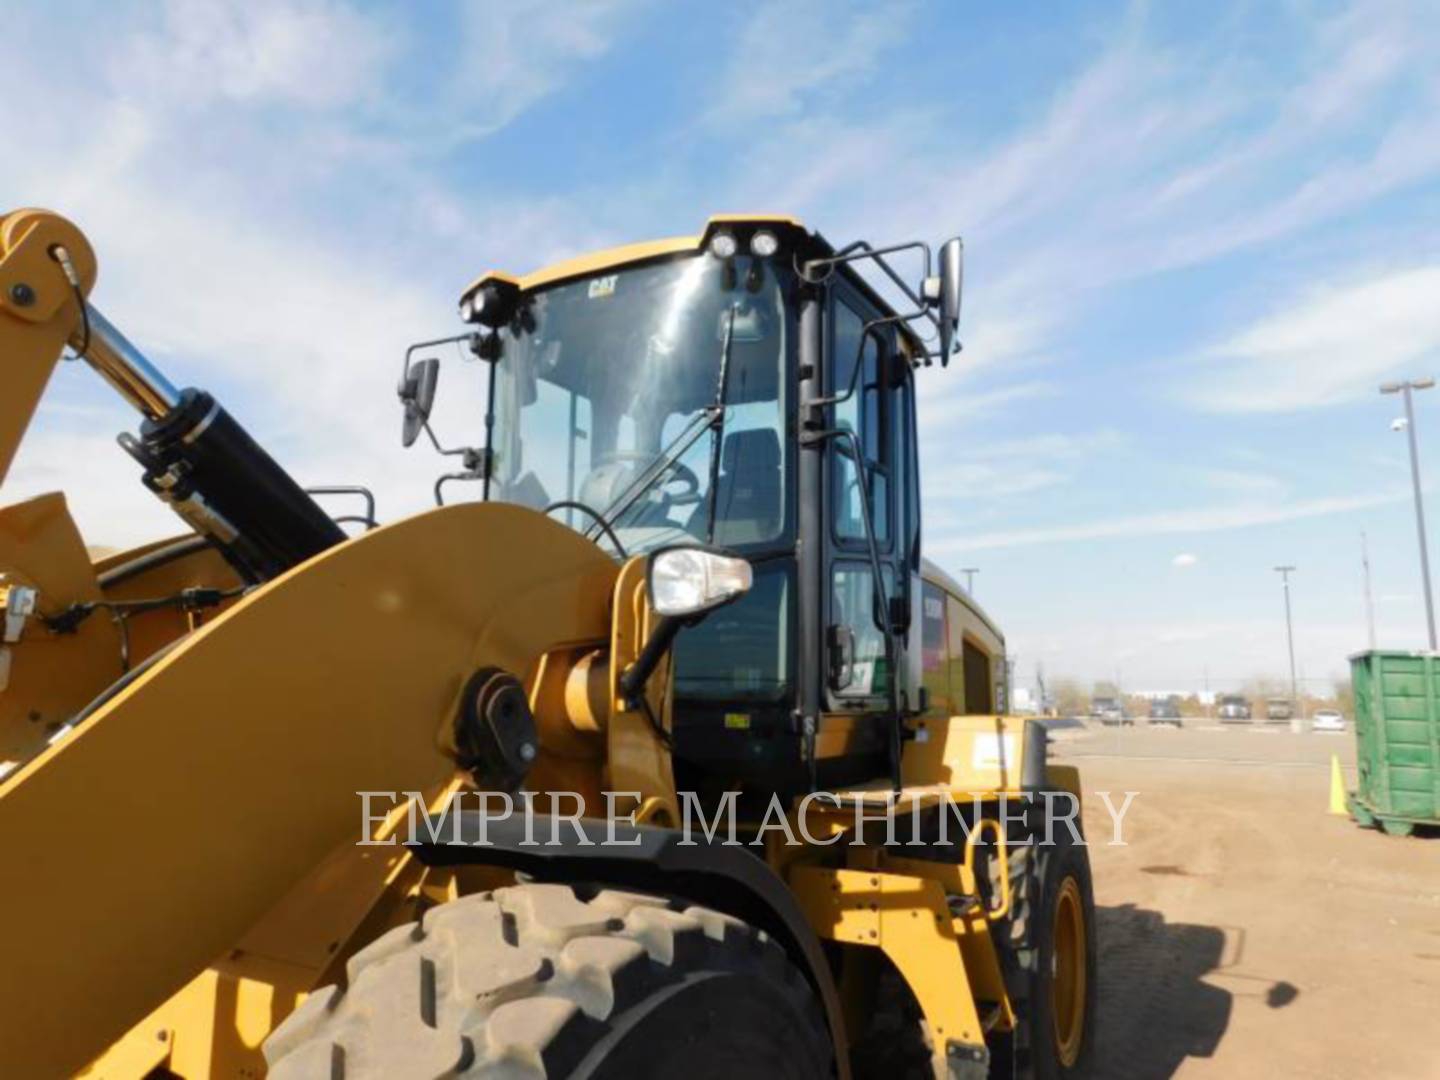
<path id="1" fill-rule="evenodd" d="M 433 791 L 467 677 L 603 644 L 616 566 L 511 505 L 366 533 L 255 590 L 0 782 L 0 1076 L 85 1066 L 347 837 Z"/>

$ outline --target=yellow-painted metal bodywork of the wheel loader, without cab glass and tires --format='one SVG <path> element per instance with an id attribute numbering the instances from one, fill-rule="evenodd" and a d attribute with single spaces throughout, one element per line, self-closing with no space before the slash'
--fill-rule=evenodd
<path id="1" fill-rule="evenodd" d="M 472 288 L 541 288 L 694 252 L 737 223 L 802 228 L 716 217 L 697 238 L 527 279 L 490 274 Z M 92 344 L 82 305 L 94 281 L 94 253 L 69 222 L 37 210 L 0 217 L 0 480 L 63 346 Z M 151 422 L 164 419 L 168 399 L 120 363 L 122 350 L 105 344 L 86 359 Z M 481 793 L 456 719 L 477 672 L 523 687 L 537 732 L 524 789 L 541 806 L 569 812 L 560 793 L 577 793 L 592 816 L 605 808 L 641 827 L 681 824 L 674 680 L 668 657 L 647 655 L 665 619 L 645 556 L 612 559 L 530 508 L 467 503 L 256 579 L 246 559 L 222 557 L 223 514 L 157 494 L 217 531 L 95 562 L 62 495 L 0 508 L 0 1076 L 261 1076 L 265 1040 L 292 1014 L 311 1024 L 336 1008 L 333 991 L 304 1004 L 353 975 L 357 956 L 372 962 L 377 940 L 436 906 L 514 884 L 503 860 L 418 858 L 395 842 L 413 831 L 408 793 L 436 814 Z M 203 605 L 147 608 L 134 621 L 105 615 L 202 593 Z M 975 611 L 955 611 L 973 616 L 963 636 L 975 655 L 1002 649 Z M 626 672 L 647 664 L 636 691 Z M 860 717 L 835 720 L 832 740 L 860 727 Z M 850 1074 L 848 1043 L 868 1021 L 884 962 L 919 1005 L 936 1076 L 979 1076 L 986 1040 L 1022 1022 L 996 930 L 1020 903 L 1004 801 L 1032 795 L 1021 763 L 1044 734 L 995 708 L 912 710 L 906 724 L 897 783 L 792 799 L 785 831 L 814 842 L 772 842 L 759 828 L 753 847 L 786 894 L 776 926 L 789 917 L 792 936 L 842 958 L 835 971 L 804 968 L 827 1012 L 834 1071 Z M 1079 798 L 1074 770 L 1050 766 L 1044 783 Z M 624 798 L 606 804 L 606 792 Z M 933 821 L 949 804 L 975 811 L 955 860 L 912 857 L 857 824 Z M 821 955 L 791 950 L 798 965 Z M 298 1022 L 276 1053 L 300 1045 Z"/>

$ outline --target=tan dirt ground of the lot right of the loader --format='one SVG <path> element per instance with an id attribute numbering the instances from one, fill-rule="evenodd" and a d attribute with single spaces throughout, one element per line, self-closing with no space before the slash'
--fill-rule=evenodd
<path id="1" fill-rule="evenodd" d="M 1440 1077 L 1440 834 L 1326 814 L 1354 736 L 1102 729 L 1081 768 L 1100 1077 Z M 1136 791 L 1113 847 L 1096 792 Z"/>

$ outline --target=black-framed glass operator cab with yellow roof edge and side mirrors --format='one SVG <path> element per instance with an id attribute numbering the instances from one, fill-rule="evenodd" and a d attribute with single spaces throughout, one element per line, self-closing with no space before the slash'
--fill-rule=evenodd
<path id="1" fill-rule="evenodd" d="M 897 252 L 923 256 L 919 289 Z M 454 478 L 616 559 L 698 544 L 752 566 L 743 596 L 674 642 L 674 756 L 697 789 L 894 775 L 900 721 L 926 708 L 914 376 L 936 354 L 912 323 L 948 360 L 959 242 L 940 276 L 930 262 L 923 245 L 835 252 L 791 219 L 717 217 L 465 292 L 490 408 Z M 408 359 L 402 397 L 433 395 L 423 363 Z M 428 431 L 415 397 L 409 441 Z"/>

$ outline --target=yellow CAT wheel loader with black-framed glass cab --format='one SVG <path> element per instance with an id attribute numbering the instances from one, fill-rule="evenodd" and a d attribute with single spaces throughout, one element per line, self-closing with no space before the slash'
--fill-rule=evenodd
<path id="1" fill-rule="evenodd" d="M 71 354 L 183 524 L 0 510 L 0 1076 L 1081 1074 L 1079 775 L 922 554 L 960 278 L 763 215 L 484 274 L 380 524 L 0 217 L 0 480 Z"/>

